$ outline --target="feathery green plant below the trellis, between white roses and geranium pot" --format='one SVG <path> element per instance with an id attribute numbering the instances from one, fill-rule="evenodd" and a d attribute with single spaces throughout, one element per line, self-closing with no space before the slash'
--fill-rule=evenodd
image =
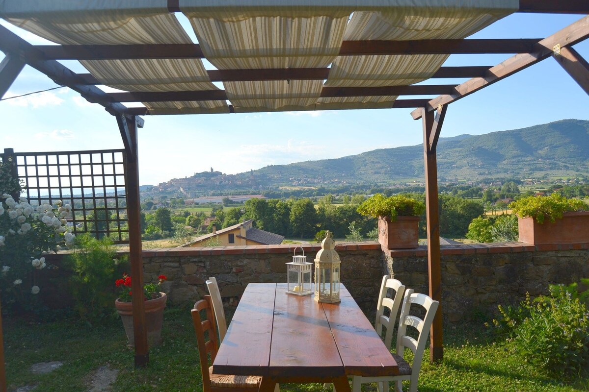
<path id="1" fill-rule="evenodd" d="M 111 284 L 121 263 L 115 256 L 110 238 L 97 240 L 84 234 L 77 237 L 74 252 L 65 259 L 73 272 L 69 283 L 75 310 L 87 323 L 112 314 L 117 294 Z"/>

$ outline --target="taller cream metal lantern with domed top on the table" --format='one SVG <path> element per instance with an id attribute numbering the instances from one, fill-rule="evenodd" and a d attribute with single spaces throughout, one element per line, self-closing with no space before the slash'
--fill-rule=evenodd
<path id="1" fill-rule="evenodd" d="M 321 250 L 315 257 L 315 300 L 318 302 L 339 302 L 339 269 L 341 260 L 335 251 L 331 233 L 325 234 Z"/>

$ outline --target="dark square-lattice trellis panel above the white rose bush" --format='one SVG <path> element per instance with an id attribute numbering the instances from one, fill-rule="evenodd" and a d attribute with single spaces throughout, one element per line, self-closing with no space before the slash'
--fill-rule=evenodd
<path id="1" fill-rule="evenodd" d="M 33 206 L 57 200 L 72 206 L 75 234 L 108 236 L 115 243 L 129 238 L 125 197 L 125 150 L 14 153 L 16 175 Z"/>

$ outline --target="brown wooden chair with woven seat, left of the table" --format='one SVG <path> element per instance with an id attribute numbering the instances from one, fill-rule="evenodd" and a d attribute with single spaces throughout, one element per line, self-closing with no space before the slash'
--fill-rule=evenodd
<path id="1" fill-rule="evenodd" d="M 209 366 L 209 355 L 212 364 L 219 350 L 217 325 L 211 297 L 204 296 L 203 299 L 195 303 L 191 314 L 198 343 L 200 370 L 203 374 L 203 392 L 257 391 L 262 377 L 213 374 L 213 366 Z"/>

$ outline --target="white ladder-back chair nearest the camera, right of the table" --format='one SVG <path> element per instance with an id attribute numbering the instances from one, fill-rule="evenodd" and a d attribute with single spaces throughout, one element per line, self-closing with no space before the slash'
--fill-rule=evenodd
<path id="1" fill-rule="evenodd" d="M 416 316 L 411 316 L 409 310 L 412 305 L 420 305 L 425 309 L 423 320 Z M 379 390 L 388 391 L 389 381 L 395 382 L 395 391 L 403 391 L 403 380 L 410 380 L 409 392 L 417 391 L 419 380 L 419 370 L 421 370 L 421 360 L 423 359 L 423 350 L 429 336 L 429 329 L 434 321 L 436 310 L 438 310 L 438 301 L 432 300 L 425 294 L 413 293 L 412 289 L 405 290 L 403 298 L 403 307 L 399 317 L 399 331 L 397 332 L 396 354 L 392 354 L 399 365 L 399 374 L 397 376 L 384 377 L 352 377 L 352 392 L 360 392 L 360 384 L 378 383 Z M 413 327 L 418 331 L 418 338 L 407 334 L 407 327 Z M 413 351 L 413 364 L 409 364 L 403 359 L 405 349 Z"/>

